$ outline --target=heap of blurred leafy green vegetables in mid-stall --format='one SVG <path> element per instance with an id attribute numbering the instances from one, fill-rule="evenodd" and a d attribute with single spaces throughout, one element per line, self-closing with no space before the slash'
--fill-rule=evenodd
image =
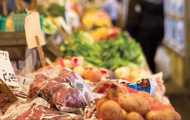
<path id="1" fill-rule="evenodd" d="M 95 42 L 88 33 L 76 32 L 62 44 L 61 50 L 64 56 L 83 56 L 95 66 L 112 70 L 145 65 L 140 45 L 126 33 L 121 33 L 114 40 Z"/>

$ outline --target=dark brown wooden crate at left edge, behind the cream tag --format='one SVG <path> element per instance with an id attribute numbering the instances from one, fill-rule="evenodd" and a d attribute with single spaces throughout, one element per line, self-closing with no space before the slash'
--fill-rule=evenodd
<path id="1" fill-rule="evenodd" d="M 0 32 L 0 49 L 8 51 L 11 60 L 24 60 L 26 47 L 23 32 Z"/>

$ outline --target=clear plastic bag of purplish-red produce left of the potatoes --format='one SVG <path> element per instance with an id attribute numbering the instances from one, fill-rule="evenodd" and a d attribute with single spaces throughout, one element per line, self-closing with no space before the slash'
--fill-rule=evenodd
<path id="1" fill-rule="evenodd" d="M 66 69 L 55 78 L 38 74 L 30 86 L 29 97 L 40 96 L 58 110 L 72 112 L 89 102 L 90 90 L 84 92 L 85 85 L 80 81 L 82 78 Z"/>

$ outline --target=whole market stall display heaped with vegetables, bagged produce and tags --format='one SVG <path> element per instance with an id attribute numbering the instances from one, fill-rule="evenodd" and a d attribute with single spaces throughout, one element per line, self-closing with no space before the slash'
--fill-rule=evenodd
<path id="1" fill-rule="evenodd" d="M 15 44 L 34 50 L 37 63 L 15 73 L 13 51 L 0 50 L 1 120 L 181 120 L 165 96 L 162 73 L 151 73 L 140 45 L 103 10 L 79 1 L 41 4 L 43 18 L 35 3 L 22 23 L 26 40 Z M 59 57 L 48 57 L 46 42 Z"/>

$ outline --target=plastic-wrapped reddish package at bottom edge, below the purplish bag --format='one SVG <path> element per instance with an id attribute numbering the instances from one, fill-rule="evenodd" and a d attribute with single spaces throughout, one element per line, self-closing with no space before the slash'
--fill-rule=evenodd
<path id="1" fill-rule="evenodd" d="M 33 106 L 16 120 L 82 120 L 74 114 L 59 114 L 44 106 Z"/>

